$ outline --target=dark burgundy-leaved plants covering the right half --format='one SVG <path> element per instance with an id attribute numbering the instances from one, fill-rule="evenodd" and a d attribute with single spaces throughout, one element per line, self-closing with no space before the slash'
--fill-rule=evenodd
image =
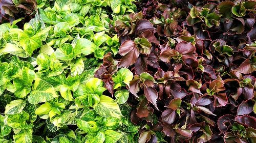
<path id="1" fill-rule="evenodd" d="M 127 102 L 139 142 L 253 142 L 255 2 L 136 4 L 115 22 L 119 54 L 98 72 L 133 72 Z"/>

